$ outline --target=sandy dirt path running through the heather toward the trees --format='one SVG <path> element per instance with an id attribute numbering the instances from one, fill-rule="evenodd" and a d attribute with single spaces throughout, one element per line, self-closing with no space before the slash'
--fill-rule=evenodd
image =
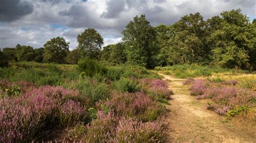
<path id="1" fill-rule="evenodd" d="M 256 142 L 247 135 L 236 131 L 230 123 L 216 113 L 206 110 L 206 100 L 196 100 L 190 96 L 189 87 L 183 85 L 184 79 L 163 75 L 171 96 L 167 115 L 170 134 L 169 142 Z"/>

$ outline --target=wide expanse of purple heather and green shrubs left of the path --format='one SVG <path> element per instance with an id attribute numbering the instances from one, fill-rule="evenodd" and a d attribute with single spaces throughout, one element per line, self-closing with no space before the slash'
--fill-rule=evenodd
<path id="1" fill-rule="evenodd" d="M 172 92 L 145 68 L 88 75 L 76 65 L 15 62 L 0 73 L 0 142 L 165 140 L 163 103 Z M 64 138 L 49 135 L 60 131 Z"/>

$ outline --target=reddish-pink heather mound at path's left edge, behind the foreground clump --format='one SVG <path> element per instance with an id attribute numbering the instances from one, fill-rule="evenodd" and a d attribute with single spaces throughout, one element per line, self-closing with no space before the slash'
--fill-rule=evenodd
<path id="1" fill-rule="evenodd" d="M 105 102 L 118 116 L 136 117 L 140 120 L 156 120 L 163 115 L 164 106 L 153 101 L 143 92 L 113 94 L 109 101 Z"/>

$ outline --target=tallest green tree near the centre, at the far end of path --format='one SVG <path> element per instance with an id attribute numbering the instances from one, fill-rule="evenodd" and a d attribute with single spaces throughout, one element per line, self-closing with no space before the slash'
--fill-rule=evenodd
<path id="1" fill-rule="evenodd" d="M 158 49 L 154 47 L 156 32 L 146 20 L 146 16 L 136 16 L 122 32 L 123 41 L 126 48 L 127 62 L 131 65 L 152 68 L 156 65 L 156 53 Z"/>

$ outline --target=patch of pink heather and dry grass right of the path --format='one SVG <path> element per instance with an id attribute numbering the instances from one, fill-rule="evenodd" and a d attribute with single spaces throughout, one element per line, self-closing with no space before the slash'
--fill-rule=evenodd
<path id="1" fill-rule="evenodd" d="M 190 94 L 195 95 L 197 99 L 210 99 L 207 109 L 227 118 L 241 115 L 255 108 L 255 91 L 242 88 L 239 81 L 234 79 L 194 80 L 190 87 Z"/>

